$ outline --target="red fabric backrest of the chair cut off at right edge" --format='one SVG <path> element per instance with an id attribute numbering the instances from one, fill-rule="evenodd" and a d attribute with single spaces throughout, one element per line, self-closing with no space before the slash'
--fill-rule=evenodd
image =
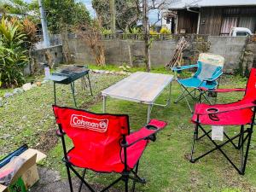
<path id="1" fill-rule="evenodd" d="M 249 79 L 247 80 L 247 89 L 244 99 L 256 101 L 256 68 L 251 69 Z"/>

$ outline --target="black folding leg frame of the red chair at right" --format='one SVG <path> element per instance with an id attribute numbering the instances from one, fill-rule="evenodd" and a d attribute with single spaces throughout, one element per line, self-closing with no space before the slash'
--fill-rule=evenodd
<path id="1" fill-rule="evenodd" d="M 249 153 L 249 148 L 250 148 L 250 143 L 252 139 L 252 134 L 253 134 L 253 125 L 255 124 L 255 113 L 256 113 L 256 107 L 253 107 L 253 115 L 252 115 L 252 123 L 245 129 L 246 125 L 241 125 L 240 132 L 236 134 L 234 137 L 229 137 L 225 132 L 224 132 L 224 137 L 227 138 L 226 141 L 224 141 L 221 144 L 216 143 L 215 141 L 212 140 L 212 137 L 209 135 L 211 131 L 206 131 L 200 124 L 200 114 L 197 114 L 197 119 L 195 122 L 195 131 L 194 131 L 194 137 L 193 137 L 193 143 L 192 143 L 192 148 L 191 148 L 191 156 L 190 156 L 190 162 L 195 163 L 195 161 L 200 160 L 202 157 L 206 156 L 207 154 L 212 153 L 213 151 L 217 150 L 224 155 L 225 159 L 230 162 L 230 164 L 236 169 L 236 171 L 244 175 L 246 171 L 246 166 L 247 166 L 247 157 Z M 199 128 L 201 131 L 203 131 L 203 135 L 199 137 Z M 210 141 L 213 143 L 215 148 L 212 148 L 211 150 L 208 150 L 206 153 L 201 154 L 200 156 L 194 158 L 193 155 L 195 154 L 195 141 L 199 141 L 203 137 L 208 137 Z M 233 142 L 238 138 L 238 143 Z M 246 144 L 247 142 L 247 144 Z M 224 147 L 227 143 L 231 143 L 237 150 L 240 150 L 241 153 L 241 165 L 240 167 L 236 166 L 235 162 L 233 160 L 230 160 L 230 157 L 224 153 L 224 150 L 222 147 Z M 244 145 L 247 145 L 246 148 L 244 148 Z"/>

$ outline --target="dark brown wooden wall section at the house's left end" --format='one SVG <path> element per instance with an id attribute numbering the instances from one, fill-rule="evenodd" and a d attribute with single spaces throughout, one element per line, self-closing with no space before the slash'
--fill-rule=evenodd
<path id="1" fill-rule="evenodd" d="M 198 14 L 187 10 L 177 11 L 177 33 L 184 29 L 186 33 L 196 33 Z"/>

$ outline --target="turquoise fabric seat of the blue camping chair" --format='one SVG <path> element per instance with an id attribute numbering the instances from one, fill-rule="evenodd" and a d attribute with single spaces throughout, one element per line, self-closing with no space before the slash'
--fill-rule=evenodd
<path id="1" fill-rule="evenodd" d="M 190 87 L 190 88 L 199 88 L 199 87 L 205 87 L 207 89 L 214 89 L 217 84 L 216 81 L 212 81 L 211 83 L 207 83 L 206 81 L 202 82 L 201 79 L 197 78 L 189 78 L 189 79 L 177 79 L 177 82 L 179 84 L 182 84 L 184 87 Z"/>

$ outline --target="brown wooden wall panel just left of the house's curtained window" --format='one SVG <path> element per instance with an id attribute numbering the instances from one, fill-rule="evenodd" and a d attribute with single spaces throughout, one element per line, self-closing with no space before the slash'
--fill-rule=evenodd
<path id="1" fill-rule="evenodd" d="M 200 34 L 219 35 L 222 22 L 222 8 L 202 8 Z"/>

